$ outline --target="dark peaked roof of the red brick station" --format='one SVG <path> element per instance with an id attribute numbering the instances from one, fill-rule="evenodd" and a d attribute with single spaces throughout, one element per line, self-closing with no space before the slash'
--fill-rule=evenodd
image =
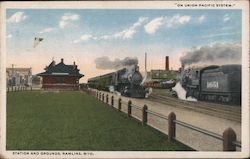
<path id="1" fill-rule="evenodd" d="M 75 62 L 73 65 L 65 65 L 63 59 L 57 65 L 53 60 L 49 66 L 45 67 L 45 72 L 37 74 L 38 76 L 76 76 L 76 77 L 83 77 L 83 74 L 79 73 L 79 69 L 77 69 L 77 65 Z"/>

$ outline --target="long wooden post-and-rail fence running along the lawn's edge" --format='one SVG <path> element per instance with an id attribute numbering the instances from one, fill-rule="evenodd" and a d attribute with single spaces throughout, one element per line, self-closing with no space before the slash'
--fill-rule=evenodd
<path id="1" fill-rule="evenodd" d="M 103 102 L 105 102 L 104 101 L 104 93 L 100 93 L 100 92 L 97 91 L 96 96 L 97 96 L 97 98 L 99 100 L 102 100 Z M 108 101 L 108 97 L 109 96 L 106 93 L 106 98 L 107 98 L 106 101 Z M 111 96 L 111 103 L 114 104 L 114 96 Z M 108 102 L 106 102 L 106 104 L 109 105 Z M 121 98 L 118 99 L 118 110 L 119 111 L 121 111 L 121 105 L 122 104 L 127 105 L 127 108 L 128 108 L 127 109 L 127 114 L 128 114 L 129 117 L 131 116 L 131 117 L 141 121 L 143 125 L 146 124 L 146 125 L 154 128 L 154 129 L 168 135 L 168 140 L 169 141 L 172 141 L 173 139 L 176 140 L 176 138 L 175 138 L 176 125 L 180 125 L 180 126 L 183 126 L 185 128 L 188 128 L 190 130 L 193 130 L 193 131 L 196 131 L 196 132 L 199 132 L 199 133 L 202 133 L 202 134 L 205 134 L 207 136 L 210 136 L 210 137 L 213 137 L 215 139 L 223 141 L 223 151 L 236 151 L 236 147 L 241 148 L 241 142 L 236 140 L 236 133 L 234 132 L 234 130 L 232 128 L 227 128 L 223 132 L 223 134 L 220 135 L 220 134 L 217 134 L 217 133 L 214 133 L 214 132 L 211 132 L 211 131 L 208 131 L 208 130 L 205 130 L 205 129 L 202 129 L 202 128 L 199 128 L 199 127 L 196 127 L 194 125 L 185 123 L 183 121 L 176 120 L 176 115 L 175 115 L 174 112 L 171 112 L 168 116 L 165 116 L 163 114 L 154 112 L 152 110 L 148 110 L 147 105 L 144 105 L 143 107 L 140 107 L 140 106 L 137 106 L 135 104 L 132 104 L 132 101 L 130 101 L 130 100 L 128 102 L 122 101 Z M 111 106 L 113 106 L 113 105 L 111 104 Z M 141 110 L 142 111 L 142 118 L 139 118 L 137 116 L 132 115 L 132 108 Z M 147 114 L 151 114 L 151 115 L 154 115 L 156 117 L 167 120 L 168 121 L 168 132 L 164 132 L 163 130 L 157 128 L 156 126 L 148 123 L 147 122 L 147 119 L 148 119 Z"/>

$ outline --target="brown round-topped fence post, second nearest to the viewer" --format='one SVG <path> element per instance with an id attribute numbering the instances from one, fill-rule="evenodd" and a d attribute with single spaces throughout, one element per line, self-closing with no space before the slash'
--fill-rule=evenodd
<path id="1" fill-rule="evenodd" d="M 176 115 L 174 112 L 171 112 L 168 115 L 168 141 L 172 141 L 175 138 L 176 126 L 174 120 L 176 120 Z"/>

